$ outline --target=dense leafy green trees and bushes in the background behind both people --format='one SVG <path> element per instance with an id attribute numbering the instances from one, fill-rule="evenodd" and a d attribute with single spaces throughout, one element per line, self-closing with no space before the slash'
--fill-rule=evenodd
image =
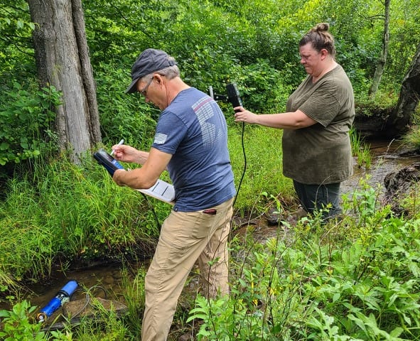
<path id="1" fill-rule="evenodd" d="M 413 0 L 402 7 L 392 5 L 389 58 L 379 88 L 383 95 L 375 106 L 384 97 L 395 99 L 411 61 L 420 32 L 416 5 Z M 293 1 L 281 6 L 278 1 L 260 0 L 101 0 L 85 1 L 83 9 L 104 143 L 124 138 L 135 146 L 149 146 L 158 112 L 142 99 L 124 94 L 131 65 L 144 48 L 162 48 L 174 55 L 185 81 L 205 92 L 211 85 L 224 94 L 225 85 L 236 82 L 244 104 L 256 112 L 284 109 L 286 98 L 305 77 L 299 65 L 298 40 L 316 22 L 330 23 L 338 62 L 348 72 L 357 98 L 364 98 L 370 87 L 381 49 L 383 22 L 378 18 L 383 4 L 376 0 Z M 0 74 L 6 80 L 0 107 L 16 108 L 24 103 L 25 108 L 31 107 L 31 99 L 38 102 L 36 91 L 27 90 L 27 102 L 16 99 L 14 103 L 13 96 L 6 96 L 10 91 L 16 93 L 14 82 L 24 89 L 24 80 L 36 74 L 33 59 L 28 58 L 33 53 L 30 35 L 34 28 L 28 4 L 6 0 L 0 11 L 4 37 L 0 40 Z M 11 110 L 7 110 L 8 118 Z M 34 125 L 32 121 L 19 123 L 23 130 L 28 125 L 28 131 Z M 53 133 L 47 134 L 21 134 L 23 141 L 15 138 L 2 164 L 33 158 L 38 145 L 49 141 Z"/>

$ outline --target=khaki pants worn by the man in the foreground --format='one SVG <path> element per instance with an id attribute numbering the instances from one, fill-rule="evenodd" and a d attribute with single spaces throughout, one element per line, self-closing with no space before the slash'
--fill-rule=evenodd
<path id="1" fill-rule="evenodd" d="M 197 259 L 203 294 L 214 297 L 217 292 L 229 293 L 227 239 L 232 202 L 210 207 L 217 210 L 215 215 L 172 211 L 163 222 L 145 278 L 142 341 L 166 340 L 178 298 Z"/>

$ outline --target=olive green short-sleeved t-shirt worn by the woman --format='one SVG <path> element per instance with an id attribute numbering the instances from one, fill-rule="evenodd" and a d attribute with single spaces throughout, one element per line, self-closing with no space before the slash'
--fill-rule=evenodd
<path id="1" fill-rule="evenodd" d="M 306 77 L 286 104 L 318 123 L 303 129 L 284 129 L 283 173 L 308 185 L 338 183 L 352 175 L 349 130 L 355 117 L 352 85 L 338 65 L 315 84 Z"/>

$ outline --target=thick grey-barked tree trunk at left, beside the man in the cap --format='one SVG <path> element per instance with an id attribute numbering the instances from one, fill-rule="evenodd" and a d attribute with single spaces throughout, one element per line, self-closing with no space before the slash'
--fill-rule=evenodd
<path id="1" fill-rule="evenodd" d="M 63 92 L 56 108 L 61 150 L 72 161 L 101 141 L 96 87 L 90 65 L 81 0 L 28 0 L 36 23 L 33 42 L 41 86 Z"/>

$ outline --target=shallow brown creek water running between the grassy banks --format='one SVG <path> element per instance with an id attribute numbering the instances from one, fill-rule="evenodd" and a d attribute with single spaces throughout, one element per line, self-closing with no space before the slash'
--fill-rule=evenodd
<path id="1" fill-rule="evenodd" d="M 357 160 L 354 160 L 354 175 L 342 184 L 342 193 L 352 194 L 355 190 L 360 188 L 360 179 L 366 175 L 370 175 L 367 183 L 376 186 L 378 183 L 384 188 L 384 178 L 388 173 L 398 171 L 399 169 L 409 166 L 414 162 L 420 161 L 420 156 L 415 157 L 401 157 L 399 153 L 402 152 L 402 146 L 396 141 L 372 141 L 367 142 L 372 153 L 372 166 L 369 169 L 357 166 Z M 274 229 L 274 227 L 266 227 L 267 229 Z M 266 231 L 268 232 L 268 231 Z M 264 235 L 264 226 L 259 226 L 259 233 Z M 265 234 L 269 235 L 269 233 Z M 136 271 L 140 267 L 148 266 L 148 261 L 139 264 L 130 264 L 131 269 Z M 131 271 L 131 272 L 134 272 Z M 132 276 L 132 275 L 131 275 Z M 130 279 L 130 277 L 128 276 Z M 106 293 L 107 298 L 116 299 L 117 301 L 124 301 L 122 298 L 123 278 L 121 264 L 102 264 L 93 266 L 89 269 L 82 269 L 77 271 L 56 272 L 48 281 L 48 284 L 34 284 L 23 297 L 31 302 L 32 305 L 43 307 L 50 301 L 51 298 L 62 288 L 70 279 L 76 280 L 80 287 L 94 288 L 99 287 L 101 291 Z M 80 295 L 79 295 L 80 297 Z M 100 297 L 104 298 L 104 295 Z M 77 299 L 76 298 L 72 298 Z M 10 309 L 11 307 L 6 303 L 0 303 L 0 309 Z"/>

